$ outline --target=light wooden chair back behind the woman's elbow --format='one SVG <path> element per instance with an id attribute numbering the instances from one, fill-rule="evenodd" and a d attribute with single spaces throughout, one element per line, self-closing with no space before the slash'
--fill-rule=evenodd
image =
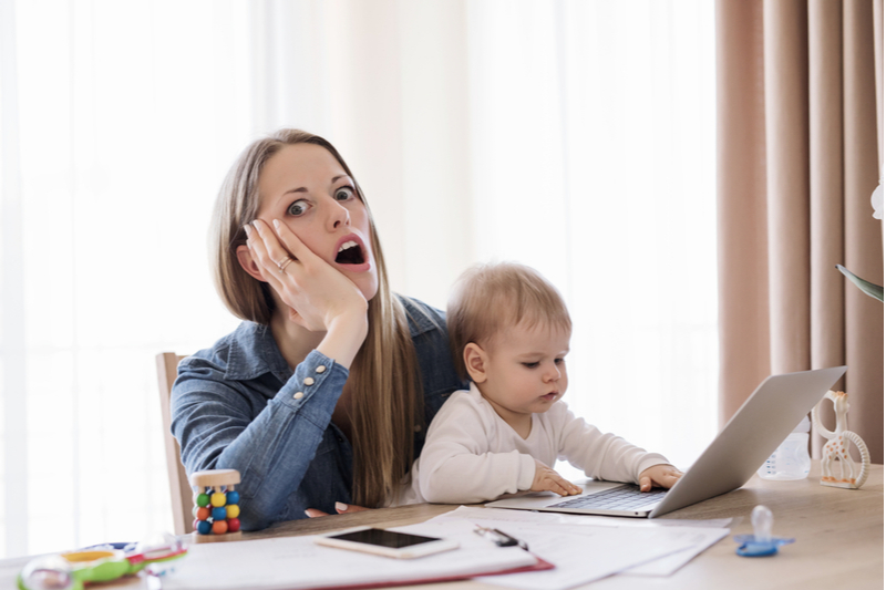
<path id="1" fill-rule="evenodd" d="M 173 436 L 172 413 L 169 410 L 169 395 L 173 383 L 178 376 L 178 361 L 184 359 L 174 352 L 157 354 L 157 379 L 159 385 L 159 408 L 163 416 L 163 442 L 166 446 L 166 469 L 169 473 L 169 494 L 173 504 L 173 521 L 176 535 L 185 535 L 194 530 L 192 507 L 194 491 L 187 479 L 187 472 L 182 464 L 182 451 L 178 441 Z"/>

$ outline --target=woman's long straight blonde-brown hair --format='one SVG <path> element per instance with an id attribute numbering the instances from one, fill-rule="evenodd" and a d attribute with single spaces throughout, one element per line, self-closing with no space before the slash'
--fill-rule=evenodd
<path id="1" fill-rule="evenodd" d="M 370 242 L 379 273 L 379 290 L 369 302 L 369 333 L 353 363 L 347 387 L 351 395 L 353 490 L 357 505 L 382 506 L 398 490 L 413 460 L 413 425 L 423 422 L 421 380 L 410 338 L 406 311 L 391 292 L 384 256 L 372 213 L 360 185 L 328 141 L 299 130 L 280 130 L 247 147 L 225 178 L 210 228 L 216 289 L 238 318 L 268 325 L 275 311 L 270 287 L 257 281 L 237 260 L 246 244 L 244 226 L 256 219 L 261 196 L 258 178 L 265 164 L 287 145 L 313 144 L 327 149 L 354 180 L 369 215 Z"/>

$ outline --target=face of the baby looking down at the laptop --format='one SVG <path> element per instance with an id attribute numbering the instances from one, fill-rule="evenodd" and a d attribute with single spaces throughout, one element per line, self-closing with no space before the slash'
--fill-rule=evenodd
<path id="1" fill-rule="evenodd" d="M 480 385 L 484 397 L 512 414 L 547 412 L 569 383 L 564 358 L 570 335 L 542 323 L 499 334 L 486 349 L 486 381 Z"/>

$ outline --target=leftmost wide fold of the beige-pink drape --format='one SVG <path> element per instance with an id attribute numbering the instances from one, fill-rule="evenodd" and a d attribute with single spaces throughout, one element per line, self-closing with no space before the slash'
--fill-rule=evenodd
<path id="1" fill-rule="evenodd" d="M 721 425 L 769 374 L 762 11 L 721 1 L 715 13 Z"/>

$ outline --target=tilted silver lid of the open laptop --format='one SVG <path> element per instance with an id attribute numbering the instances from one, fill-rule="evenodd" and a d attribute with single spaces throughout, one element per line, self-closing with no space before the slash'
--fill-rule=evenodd
<path id="1" fill-rule="evenodd" d="M 649 518 L 746 484 L 845 372 L 834 366 L 766 377 Z"/>

